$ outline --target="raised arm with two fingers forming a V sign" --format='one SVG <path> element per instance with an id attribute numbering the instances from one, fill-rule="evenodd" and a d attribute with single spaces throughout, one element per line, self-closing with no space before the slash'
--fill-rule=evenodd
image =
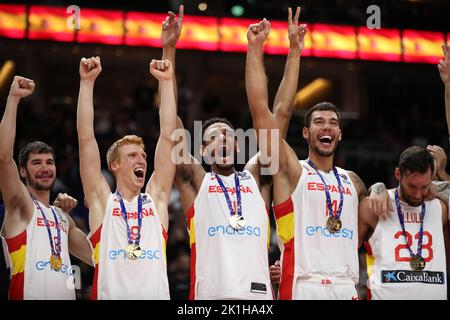
<path id="1" fill-rule="evenodd" d="M 286 139 L 289 122 L 294 111 L 294 99 L 300 73 L 300 58 L 305 47 L 305 35 L 308 31 L 305 24 L 298 25 L 300 11 L 300 7 L 297 7 L 294 19 L 292 19 L 292 9 L 288 8 L 289 53 L 284 67 L 283 79 L 273 106 L 273 113 L 283 139 Z"/>

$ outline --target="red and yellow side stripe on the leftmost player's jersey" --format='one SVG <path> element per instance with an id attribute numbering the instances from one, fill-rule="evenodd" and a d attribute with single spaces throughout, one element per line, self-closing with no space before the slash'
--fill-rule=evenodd
<path id="1" fill-rule="evenodd" d="M 25 258 L 27 253 L 27 231 L 6 239 L 8 253 L 11 260 L 11 278 L 9 281 L 8 298 L 11 300 L 23 300 Z"/>

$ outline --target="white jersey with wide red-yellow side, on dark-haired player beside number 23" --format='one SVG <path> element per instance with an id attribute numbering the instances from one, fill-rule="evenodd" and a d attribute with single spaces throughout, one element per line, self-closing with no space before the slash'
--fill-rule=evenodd
<path id="1" fill-rule="evenodd" d="M 301 282 L 354 287 L 359 279 L 358 195 L 347 171 L 337 168 L 344 197 L 342 229 L 331 234 L 326 228 L 328 208 L 324 184 L 306 161 L 300 161 L 300 165 L 302 174 L 291 197 L 274 206 L 281 251 L 279 297 L 287 300 L 309 299 L 301 295 Z M 328 185 L 333 212 L 336 212 L 340 201 L 336 177 L 333 171 L 320 173 Z M 357 295 L 356 290 L 353 291 Z"/>

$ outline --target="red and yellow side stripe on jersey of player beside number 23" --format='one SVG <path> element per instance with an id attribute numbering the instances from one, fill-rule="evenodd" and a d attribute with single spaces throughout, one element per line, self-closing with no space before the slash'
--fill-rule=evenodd
<path id="1" fill-rule="evenodd" d="M 277 235 L 283 244 L 283 263 L 281 265 L 280 300 L 292 300 L 294 283 L 294 204 L 289 198 L 273 207 L 277 223 Z"/>

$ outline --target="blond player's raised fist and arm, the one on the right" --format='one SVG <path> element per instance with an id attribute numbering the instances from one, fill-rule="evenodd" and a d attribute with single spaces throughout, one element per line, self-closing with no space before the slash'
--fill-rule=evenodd
<path id="1" fill-rule="evenodd" d="M 161 132 L 155 150 L 155 170 L 147 183 L 146 191 L 156 201 L 159 217 L 166 230 L 169 227 L 167 206 L 175 176 L 175 159 L 172 158 L 172 133 L 177 127 L 177 107 L 173 91 L 173 69 L 169 60 L 152 60 L 151 74 L 158 79 L 161 90 L 159 123 Z"/>

